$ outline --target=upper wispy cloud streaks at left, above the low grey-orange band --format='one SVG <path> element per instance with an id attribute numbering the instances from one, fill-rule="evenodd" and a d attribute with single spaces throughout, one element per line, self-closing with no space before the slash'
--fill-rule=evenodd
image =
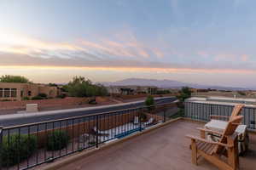
<path id="1" fill-rule="evenodd" d="M 0 52 L 27 54 L 43 58 L 54 55 L 61 58 L 83 57 L 77 56 L 77 54 L 83 53 L 96 55 L 97 58 L 130 57 L 140 59 L 156 58 L 163 55 L 160 49 L 152 48 L 137 40 L 131 31 L 125 31 L 125 36 L 116 33 L 113 37 L 115 40 L 102 37 L 97 41 L 80 38 L 75 42 L 49 42 L 19 33 L 0 33 Z"/>

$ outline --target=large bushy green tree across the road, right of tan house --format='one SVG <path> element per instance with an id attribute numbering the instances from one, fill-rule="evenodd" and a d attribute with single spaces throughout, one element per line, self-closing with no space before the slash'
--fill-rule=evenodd
<path id="1" fill-rule="evenodd" d="M 73 77 L 73 80 L 63 88 L 72 97 L 105 96 L 108 94 L 107 88 L 93 84 L 84 77 Z"/>

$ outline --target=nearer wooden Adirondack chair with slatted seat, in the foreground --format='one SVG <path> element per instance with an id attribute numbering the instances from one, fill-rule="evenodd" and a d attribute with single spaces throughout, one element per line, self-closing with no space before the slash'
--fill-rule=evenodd
<path id="1" fill-rule="evenodd" d="M 237 134 L 235 131 L 236 127 L 241 123 L 242 117 L 233 116 L 223 133 L 200 129 L 204 133 L 208 132 L 221 135 L 219 142 L 186 135 L 187 138 L 191 139 L 192 162 L 197 165 L 198 158 L 202 156 L 221 170 L 236 170 L 239 167 L 239 157 Z"/>

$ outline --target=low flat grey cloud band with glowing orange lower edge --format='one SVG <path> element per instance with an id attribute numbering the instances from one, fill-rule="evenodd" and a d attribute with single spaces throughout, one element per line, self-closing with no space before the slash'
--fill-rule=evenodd
<path id="1" fill-rule="evenodd" d="M 89 54 L 88 54 L 89 55 Z M 94 56 L 91 56 L 93 58 Z M 247 69 L 227 67 L 227 65 L 186 65 L 177 63 L 165 63 L 157 61 L 137 61 L 136 59 L 90 59 L 90 58 L 59 58 L 48 59 L 31 57 L 25 54 L 0 54 L 0 68 L 55 68 L 78 70 L 103 70 L 103 71 L 146 71 L 158 73 L 241 73 L 255 74 L 253 66 L 247 65 Z M 233 65 L 234 66 L 234 65 Z"/>

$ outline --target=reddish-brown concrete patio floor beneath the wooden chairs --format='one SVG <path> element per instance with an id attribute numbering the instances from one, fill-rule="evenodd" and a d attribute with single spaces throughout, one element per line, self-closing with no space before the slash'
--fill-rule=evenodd
<path id="1" fill-rule="evenodd" d="M 190 140 L 186 134 L 198 134 L 197 122 L 177 121 L 152 132 L 145 133 L 107 150 L 74 161 L 60 170 L 217 170 L 201 159 L 199 165 L 191 163 Z M 250 150 L 240 156 L 240 169 L 256 167 L 256 135 L 250 133 Z"/>

